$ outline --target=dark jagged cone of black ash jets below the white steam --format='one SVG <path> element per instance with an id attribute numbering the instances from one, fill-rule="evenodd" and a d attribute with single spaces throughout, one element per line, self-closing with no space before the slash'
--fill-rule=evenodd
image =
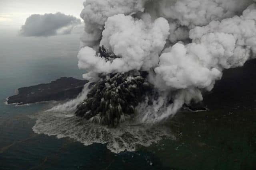
<path id="1" fill-rule="evenodd" d="M 135 107 L 152 87 L 140 72 L 100 75 L 87 99 L 77 108 L 76 115 L 92 119 L 102 125 L 115 127 L 127 115 L 134 115 Z"/>

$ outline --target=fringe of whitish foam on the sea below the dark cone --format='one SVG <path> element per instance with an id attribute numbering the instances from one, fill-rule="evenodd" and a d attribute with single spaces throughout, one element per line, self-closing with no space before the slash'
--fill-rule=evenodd
<path id="1" fill-rule="evenodd" d="M 93 143 L 107 144 L 114 153 L 135 151 L 137 145 L 145 147 L 163 138 L 175 139 L 167 128 L 149 125 L 135 125 L 126 122 L 118 128 L 96 125 L 79 117 L 60 112 L 44 112 L 37 117 L 32 128 L 35 133 L 70 137 L 88 146 Z"/>

